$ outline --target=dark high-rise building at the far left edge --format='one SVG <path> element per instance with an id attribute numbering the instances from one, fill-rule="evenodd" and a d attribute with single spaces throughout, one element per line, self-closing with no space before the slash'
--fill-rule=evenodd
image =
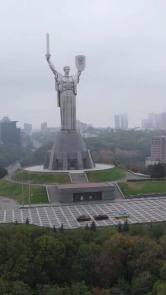
<path id="1" fill-rule="evenodd" d="M 20 146 L 20 128 L 16 126 L 17 121 L 10 121 L 8 117 L 0 120 L 0 140 L 4 144 L 15 144 Z"/>

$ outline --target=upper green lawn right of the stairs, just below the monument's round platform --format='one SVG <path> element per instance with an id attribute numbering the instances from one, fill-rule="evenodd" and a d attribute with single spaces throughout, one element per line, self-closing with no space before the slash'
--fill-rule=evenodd
<path id="1" fill-rule="evenodd" d="M 86 176 L 89 182 L 100 182 L 100 181 L 114 181 L 126 176 L 126 173 L 118 168 L 112 168 L 108 170 L 100 171 L 88 171 Z"/>

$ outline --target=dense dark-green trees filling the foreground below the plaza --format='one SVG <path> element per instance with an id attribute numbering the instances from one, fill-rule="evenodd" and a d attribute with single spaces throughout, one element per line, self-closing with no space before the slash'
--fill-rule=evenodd
<path id="1" fill-rule="evenodd" d="M 1 226 L 0 295 L 165 295 L 166 223 L 117 230 Z"/>

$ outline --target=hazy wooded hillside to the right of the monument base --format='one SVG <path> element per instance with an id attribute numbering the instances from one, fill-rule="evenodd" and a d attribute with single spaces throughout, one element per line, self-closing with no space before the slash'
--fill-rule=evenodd
<path id="1" fill-rule="evenodd" d="M 96 159 L 99 162 L 114 161 L 125 165 L 145 163 L 145 158 L 150 156 L 151 136 L 160 135 L 160 131 L 91 131 L 98 137 L 86 138 L 85 143 L 94 152 Z"/>

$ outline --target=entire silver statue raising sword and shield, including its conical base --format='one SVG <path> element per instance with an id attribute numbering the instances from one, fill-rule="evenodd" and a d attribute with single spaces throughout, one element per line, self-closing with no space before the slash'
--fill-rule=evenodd
<path id="1" fill-rule="evenodd" d="M 91 151 L 86 149 L 81 134 L 76 130 L 77 84 L 85 69 L 86 58 L 83 55 L 77 55 L 75 57 L 77 73 L 70 76 L 70 67 L 64 66 L 63 76 L 50 62 L 50 40 L 47 33 L 46 59 L 55 77 L 57 105 L 61 113 L 61 131 L 55 136 L 52 150 L 47 152 L 43 168 L 50 170 L 94 168 Z"/>

